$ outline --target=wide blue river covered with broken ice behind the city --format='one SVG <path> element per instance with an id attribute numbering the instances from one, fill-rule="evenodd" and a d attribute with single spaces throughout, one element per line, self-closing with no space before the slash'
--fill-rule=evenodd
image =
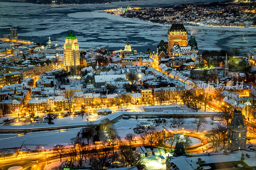
<path id="1" fill-rule="evenodd" d="M 188 0 L 186 3 L 207 3 L 215 0 Z M 153 24 L 117 15 L 95 12 L 127 7 L 161 7 L 179 4 L 179 0 L 170 1 L 131 1 L 112 4 L 39 5 L 28 3 L 0 3 L 0 37 L 10 34 L 10 28 L 18 29 L 18 38 L 33 42 L 48 41 L 64 44 L 64 38 L 69 30 L 76 35 L 79 47 L 92 47 L 99 44 L 109 44 L 110 49 L 124 48 L 124 43 L 130 41 L 138 51 L 146 51 L 148 46 L 156 50 L 160 40 L 167 40 L 169 25 Z M 92 10 L 92 11 L 91 11 Z M 241 48 L 242 52 L 256 50 L 256 29 L 206 29 L 187 27 L 188 34 L 196 36 L 198 48 L 202 50 Z M 190 37 L 190 36 L 189 36 Z"/>

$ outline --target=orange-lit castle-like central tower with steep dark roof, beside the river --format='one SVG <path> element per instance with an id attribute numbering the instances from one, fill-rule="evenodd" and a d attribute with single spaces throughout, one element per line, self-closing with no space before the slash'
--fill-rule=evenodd
<path id="1" fill-rule="evenodd" d="M 168 40 L 168 55 L 170 55 L 170 51 L 175 42 L 179 43 L 179 46 L 187 46 L 188 45 L 188 31 L 185 29 L 183 24 L 172 24 L 171 28 L 167 33 Z"/>

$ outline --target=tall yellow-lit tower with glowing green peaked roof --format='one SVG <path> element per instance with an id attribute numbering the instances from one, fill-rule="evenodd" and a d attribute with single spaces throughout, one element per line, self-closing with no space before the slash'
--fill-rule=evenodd
<path id="1" fill-rule="evenodd" d="M 65 38 L 63 54 L 64 69 L 76 73 L 79 70 L 80 53 L 77 38 L 71 31 Z"/>

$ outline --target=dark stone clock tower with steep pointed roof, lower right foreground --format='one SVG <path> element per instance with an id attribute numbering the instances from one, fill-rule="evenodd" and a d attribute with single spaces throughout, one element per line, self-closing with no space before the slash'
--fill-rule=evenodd
<path id="1" fill-rule="evenodd" d="M 246 124 L 242 112 L 235 110 L 231 123 L 228 123 L 228 149 L 231 151 L 246 149 Z"/>

